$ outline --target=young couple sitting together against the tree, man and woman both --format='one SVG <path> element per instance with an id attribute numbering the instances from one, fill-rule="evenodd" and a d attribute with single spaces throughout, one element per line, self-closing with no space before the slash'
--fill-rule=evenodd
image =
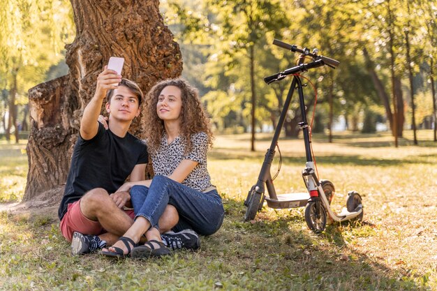
<path id="1" fill-rule="evenodd" d="M 99 117 L 105 98 L 108 124 Z M 212 133 L 197 90 L 175 79 L 149 91 L 146 144 L 128 133 L 143 98 L 137 84 L 114 70 L 105 67 L 98 75 L 59 206 L 73 255 L 101 250 L 109 257 L 149 258 L 195 250 L 198 234 L 214 234 L 223 223 L 223 203 L 207 171 Z M 145 179 L 148 155 L 151 180 Z"/>

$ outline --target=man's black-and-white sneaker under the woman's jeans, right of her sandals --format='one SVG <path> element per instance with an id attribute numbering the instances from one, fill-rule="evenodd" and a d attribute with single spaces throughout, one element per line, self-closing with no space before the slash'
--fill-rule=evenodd
<path id="1" fill-rule="evenodd" d="M 165 232 L 161 234 L 163 243 L 172 250 L 186 248 L 188 250 L 197 250 L 200 248 L 200 238 L 194 230 L 182 230 L 180 232 Z"/>

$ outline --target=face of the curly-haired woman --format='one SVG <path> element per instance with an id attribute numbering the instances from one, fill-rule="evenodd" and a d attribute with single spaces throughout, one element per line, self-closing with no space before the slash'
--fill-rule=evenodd
<path id="1" fill-rule="evenodd" d="M 182 91 L 176 86 L 167 86 L 161 91 L 156 104 L 158 117 L 163 121 L 178 120 L 182 111 Z"/>

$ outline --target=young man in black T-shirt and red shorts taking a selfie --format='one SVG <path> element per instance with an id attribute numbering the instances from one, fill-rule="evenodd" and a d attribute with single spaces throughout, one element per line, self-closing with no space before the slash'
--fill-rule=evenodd
<path id="1" fill-rule="evenodd" d="M 105 98 L 108 130 L 98 122 Z M 61 232 L 72 241 L 73 255 L 112 245 L 133 224 L 133 210 L 123 210 L 131 205 L 131 196 L 117 190 L 128 177 L 131 181 L 145 179 L 147 147 L 128 133 L 140 114 L 142 99 L 138 85 L 121 79 L 114 70 L 105 67 L 98 75 L 96 92 L 80 122 L 58 211 Z M 168 205 L 160 220 L 161 231 L 170 230 L 178 219 L 175 207 Z"/>

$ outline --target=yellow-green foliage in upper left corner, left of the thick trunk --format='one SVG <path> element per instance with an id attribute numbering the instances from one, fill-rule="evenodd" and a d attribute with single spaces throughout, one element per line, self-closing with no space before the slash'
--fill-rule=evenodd
<path id="1" fill-rule="evenodd" d="M 5 0 L 0 6 L 0 88 L 3 130 L 9 138 L 17 115 L 26 112 L 27 90 L 47 80 L 47 71 L 64 60 L 66 42 L 74 36 L 71 4 L 66 0 Z M 53 71 L 53 70 L 52 70 Z M 6 118 L 7 117 L 7 118 Z M 26 121 L 24 114 L 23 121 Z"/>

